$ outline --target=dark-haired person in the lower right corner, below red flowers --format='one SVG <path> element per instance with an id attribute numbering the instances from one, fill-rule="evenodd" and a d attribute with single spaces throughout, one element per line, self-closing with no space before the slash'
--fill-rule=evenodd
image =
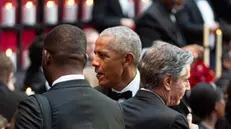
<path id="1" fill-rule="evenodd" d="M 198 118 L 199 129 L 215 129 L 217 121 L 225 116 L 224 94 L 210 83 L 198 83 L 191 89 L 189 105 L 194 120 Z"/>

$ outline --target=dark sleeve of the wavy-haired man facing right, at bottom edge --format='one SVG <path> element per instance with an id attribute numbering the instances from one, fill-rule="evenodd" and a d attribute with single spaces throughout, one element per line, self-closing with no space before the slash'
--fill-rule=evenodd
<path id="1" fill-rule="evenodd" d="M 189 125 L 183 115 L 177 115 L 170 129 L 189 129 Z"/>

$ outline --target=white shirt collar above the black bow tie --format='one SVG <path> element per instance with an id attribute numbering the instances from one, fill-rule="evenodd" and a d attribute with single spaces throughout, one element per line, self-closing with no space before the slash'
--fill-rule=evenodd
<path id="1" fill-rule="evenodd" d="M 115 89 L 112 89 L 112 91 L 117 93 L 123 93 L 130 90 L 132 92 L 132 97 L 134 97 L 137 91 L 139 90 L 139 88 L 140 88 L 140 72 L 139 70 L 136 70 L 135 78 L 123 90 L 117 91 Z"/>

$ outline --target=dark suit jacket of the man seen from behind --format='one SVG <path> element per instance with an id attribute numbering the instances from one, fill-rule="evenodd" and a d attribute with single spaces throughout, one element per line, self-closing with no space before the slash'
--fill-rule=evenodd
<path id="1" fill-rule="evenodd" d="M 91 88 L 86 80 L 60 82 L 43 95 L 51 107 L 53 129 L 124 129 L 118 103 Z M 34 97 L 20 103 L 15 129 L 42 129 Z"/>

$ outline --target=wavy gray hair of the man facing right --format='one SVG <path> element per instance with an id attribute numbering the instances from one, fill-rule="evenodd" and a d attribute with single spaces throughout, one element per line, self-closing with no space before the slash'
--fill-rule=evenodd
<path id="1" fill-rule="evenodd" d="M 149 90 L 157 88 L 165 75 L 178 79 L 193 59 L 190 51 L 163 41 L 154 41 L 153 46 L 144 53 L 139 63 L 141 87 Z"/>

